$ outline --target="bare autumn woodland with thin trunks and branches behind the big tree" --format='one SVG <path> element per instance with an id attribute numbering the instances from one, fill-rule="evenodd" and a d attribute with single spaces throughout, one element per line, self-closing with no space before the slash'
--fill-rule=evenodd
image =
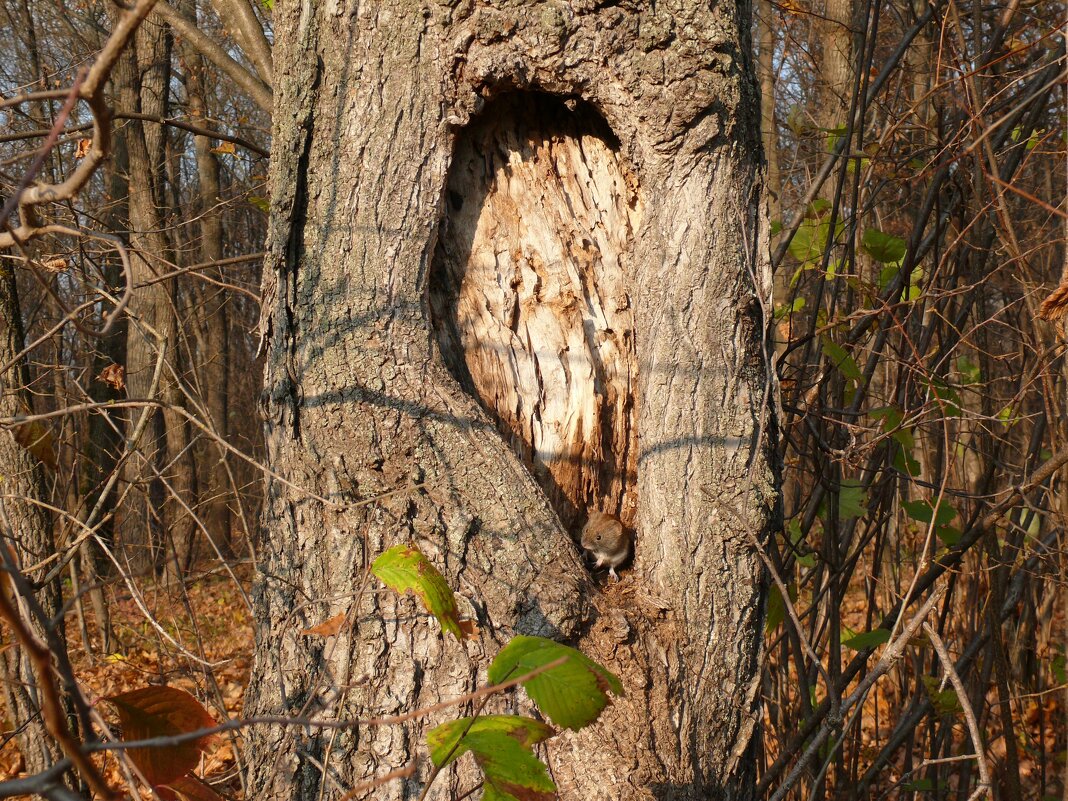
<path id="1" fill-rule="evenodd" d="M 37 180 L 77 173 L 104 144 L 94 109 L 114 116 L 108 158 L 2 254 L 12 614 L 69 654 L 59 684 L 90 697 L 167 681 L 239 714 L 271 10 L 160 0 L 100 105 L 75 105 L 40 150 L 119 12 L 0 9 L 5 203 L 38 153 Z M 753 9 L 785 465 L 759 798 L 1068 798 L 1063 23 L 1045 0 Z M 936 593 L 931 630 L 844 708 L 901 598 Z M 0 656 L 17 782 L 62 754 L 30 660 Z M 100 764 L 117 786 L 117 761 Z M 240 765 L 235 737 L 207 775 L 239 794 Z"/>

